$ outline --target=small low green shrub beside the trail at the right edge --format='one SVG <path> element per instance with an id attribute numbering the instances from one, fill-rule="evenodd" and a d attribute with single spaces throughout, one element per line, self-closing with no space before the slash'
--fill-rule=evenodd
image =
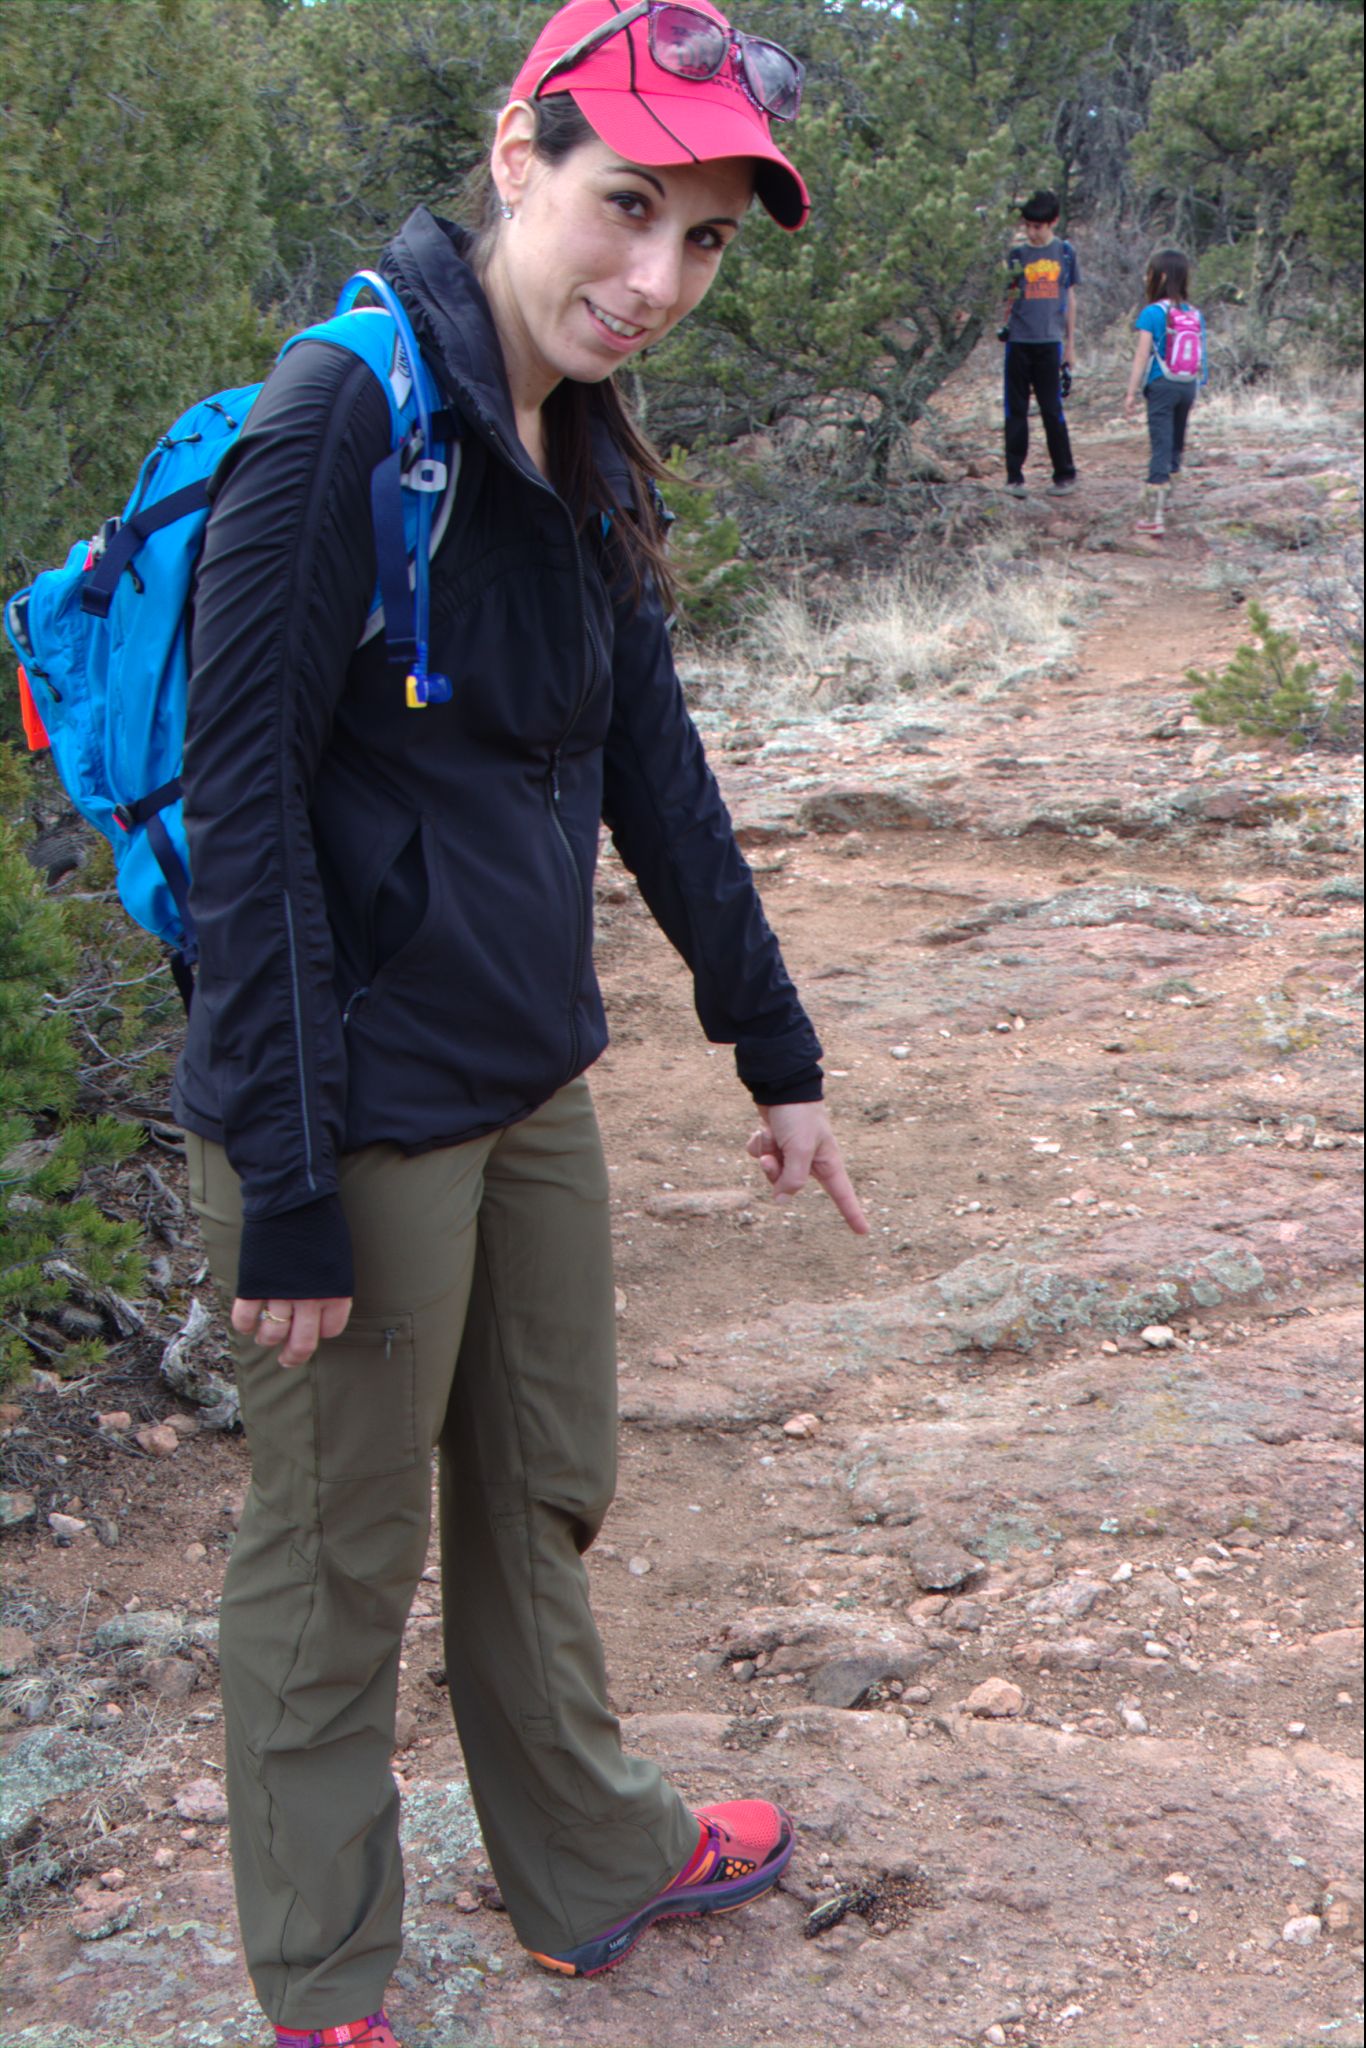
<path id="1" fill-rule="evenodd" d="M 1317 662 L 1296 659 L 1298 637 L 1274 627 L 1260 604 L 1249 602 L 1247 618 L 1255 641 L 1243 641 L 1225 670 L 1186 670 L 1204 723 L 1296 748 L 1360 748 L 1362 678 L 1343 672 L 1329 682 Z"/>

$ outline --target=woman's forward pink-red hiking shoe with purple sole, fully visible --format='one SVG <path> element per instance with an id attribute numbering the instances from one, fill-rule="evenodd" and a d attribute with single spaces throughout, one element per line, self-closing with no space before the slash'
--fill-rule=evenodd
<path id="1" fill-rule="evenodd" d="M 696 1819 L 702 1837 L 690 1862 L 639 1913 L 629 1913 L 592 1942 L 557 1956 L 532 1950 L 535 1960 L 565 1976 L 600 1976 L 631 1954 L 653 1921 L 731 1913 L 772 1890 L 793 1858 L 793 1823 L 780 1806 L 762 1798 L 737 1798 L 702 1806 Z"/>

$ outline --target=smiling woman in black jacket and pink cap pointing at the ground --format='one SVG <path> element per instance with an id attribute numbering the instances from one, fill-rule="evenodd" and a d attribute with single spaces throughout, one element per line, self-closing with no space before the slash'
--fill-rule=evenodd
<path id="1" fill-rule="evenodd" d="M 774 1192 L 866 1221 L 821 1049 L 684 709 L 659 461 L 614 371 L 707 293 L 801 66 L 688 6 L 573 0 L 498 117 L 483 221 L 383 256 L 459 418 L 414 713 L 379 639 L 383 391 L 272 371 L 199 571 L 186 819 L 201 977 L 176 1075 L 240 1337 L 252 1485 L 221 1610 L 238 1911 L 285 2044 L 395 2048 L 399 1638 L 440 1466 L 451 1704 L 518 1939 L 569 1976 L 666 1915 L 768 1890 L 793 1823 L 690 1812 L 621 1749 L 582 1552 L 614 1485 L 608 1184 L 584 1079 L 606 821 L 733 1042 Z"/>

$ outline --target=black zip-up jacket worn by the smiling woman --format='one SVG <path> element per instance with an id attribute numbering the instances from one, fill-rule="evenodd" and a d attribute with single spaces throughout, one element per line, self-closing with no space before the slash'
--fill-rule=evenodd
<path id="1" fill-rule="evenodd" d="M 338 1157 L 530 1114 L 606 1044 L 592 967 L 600 821 L 692 969 L 756 1102 L 821 1094 L 815 1032 L 684 707 L 661 604 L 575 532 L 526 457 L 459 229 L 418 209 L 385 252 L 459 416 L 410 711 L 375 588 L 373 373 L 328 342 L 272 371 L 219 477 L 195 592 L 184 811 L 201 967 L 174 1104 L 227 1147 L 238 1290 L 352 1292 Z M 600 451 L 618 498 L 616 451 Z"/>

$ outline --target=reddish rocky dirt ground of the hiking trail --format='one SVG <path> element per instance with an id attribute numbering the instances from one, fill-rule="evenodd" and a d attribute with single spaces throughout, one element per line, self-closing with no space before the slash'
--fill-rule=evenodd
<path id="1" fill-rule="evenodd" d="M 784 1800 L 799 1853 L 737 1921 L 541 1974 L 432 1583 L 395 1753 L 414 2048 L 1362 2042 L 1360 764 L 1210 733 L 1182 680 L 1243 594 L 1294 608 L 1360 422 L 1210 414 L 1155 545 L 1112 397 L 1083 489 L 1001 512 L 1087 594 L 1061 668 L 975 686 L 965 643 L 934 694 L 813 690 L 780 729 L 692 678 L 870 1239 L 766 1200 L 729 1055 L 604 864 L 614 1704 L 696 1802 Z M 971 393 L 956 434 L 985 496 Z M 147 1335 L 4 1417 L 14 2048 L 264 2040 L 213 1655 L 246 1454 L 201 1427 L 213 1327 L 180 1397 L 158 1376 L 205 1296 L 158 1214 Z"/>

